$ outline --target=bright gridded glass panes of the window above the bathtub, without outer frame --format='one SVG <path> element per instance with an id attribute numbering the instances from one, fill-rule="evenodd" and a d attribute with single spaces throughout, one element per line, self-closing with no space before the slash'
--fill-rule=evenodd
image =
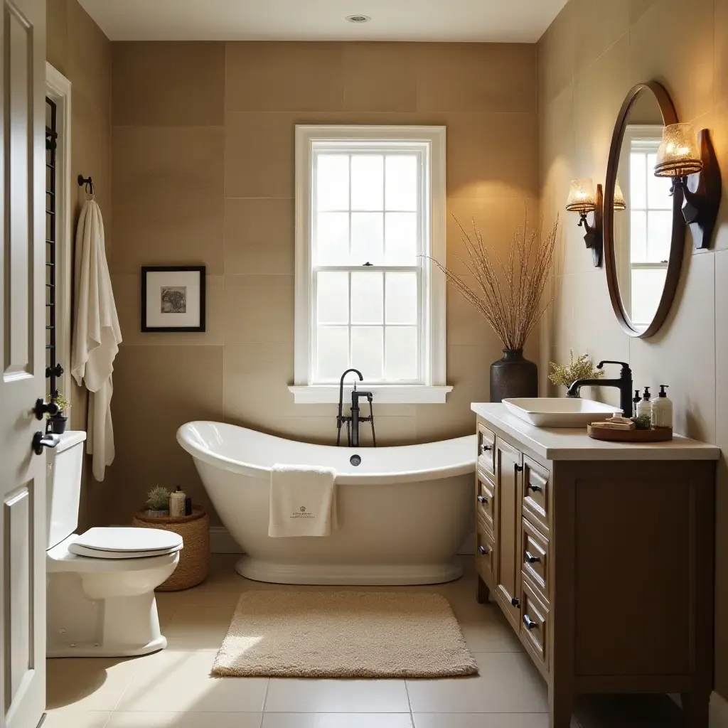
<path id="1" fill-rule="evenodd" d="M 355 367 L 422 384 L 422 153 L 374 142 L 313 160 L 313 382 Z"/>

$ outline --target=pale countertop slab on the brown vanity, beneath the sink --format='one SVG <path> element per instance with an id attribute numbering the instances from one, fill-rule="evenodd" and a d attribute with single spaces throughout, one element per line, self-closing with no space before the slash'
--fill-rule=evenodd
<path id="1" fill-rule="evenodd" d="M 717 460 L 720 448 L 675 435 L 664 443 L 608 443 L 586 428 L 534 427 L 502 403 L 473 402 L 475 414 L 545 460 Z"/>

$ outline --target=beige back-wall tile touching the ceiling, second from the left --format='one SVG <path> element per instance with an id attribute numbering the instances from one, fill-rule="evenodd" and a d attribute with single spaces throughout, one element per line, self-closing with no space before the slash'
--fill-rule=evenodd
<path id="1" fill-rule="evenodd" d="M 341 44 L 226 44 L 226 111 L 336 111 L 343 106 Z"/>

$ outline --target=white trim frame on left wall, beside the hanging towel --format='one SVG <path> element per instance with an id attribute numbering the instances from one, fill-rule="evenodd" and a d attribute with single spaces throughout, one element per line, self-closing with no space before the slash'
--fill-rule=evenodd
<path id="1" fill-rule="evenodd" d="M 73 237 L 71 237 L 71 82 L 46 61 L 46 96 L 56 106 L 55 154 L 55 360 L 63 367 L 58 391 L 71 398 L 71 295 Z"/>

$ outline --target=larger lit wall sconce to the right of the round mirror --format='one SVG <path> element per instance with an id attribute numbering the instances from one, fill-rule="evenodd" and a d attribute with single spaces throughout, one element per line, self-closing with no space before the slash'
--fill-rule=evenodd
<path id="1" fill-rule="evenodd" d="M 672 191 L 683 195 L 682 213 L 696 248 L 708 248 L 721 204 L 721 172 L 707 129 L 696 138 L 692 124 L 670 124 L 662 130 L 656 177 L 670 177 Z"/>

